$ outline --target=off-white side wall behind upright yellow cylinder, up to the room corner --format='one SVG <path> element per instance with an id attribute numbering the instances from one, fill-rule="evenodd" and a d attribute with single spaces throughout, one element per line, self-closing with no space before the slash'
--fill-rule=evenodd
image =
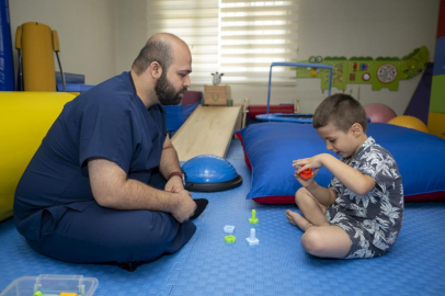
<path id="1" fill-rule="evenodd" d="M 58 33 L 65 72 L 83 73 L 85 83 L 91 84 L 116 73 L 116 22 L 112 0 L 10 0 L 9 4 L 13 44 L 19 25 L 44 23 Z M 14 61 L 16 70 L 15 53 Z"/>

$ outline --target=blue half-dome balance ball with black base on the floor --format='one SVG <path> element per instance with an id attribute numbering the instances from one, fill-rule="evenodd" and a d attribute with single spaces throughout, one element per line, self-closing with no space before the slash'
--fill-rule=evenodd
<path id="1" fill-rule="evenodd" d="M 185 189 L 189 191 L 214 192 L 238 187 L 242 178 L 233 166 L 213 155 L 197 156 L 182 166 Z"/>

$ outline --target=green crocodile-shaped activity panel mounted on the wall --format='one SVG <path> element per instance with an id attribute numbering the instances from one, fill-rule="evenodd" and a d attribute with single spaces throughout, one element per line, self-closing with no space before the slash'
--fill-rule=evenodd
<path id="1" fill-rule="evenodd" d="M 425 69 L 430 54 L 425 46 L 415 48 L 402 57 L 326 57 L 311 56 L 301 62 L 331 65 L 333 69 L 332 87 L 345 90 L 346 84 L 372 84 L 373 90 L 389 89 L 397 91 L 399 81 L 411 79 Z M 329 71 L 318 68 L 297 68 L 298 78 L 321 78 L 321 89 L 329 88 Z"/>

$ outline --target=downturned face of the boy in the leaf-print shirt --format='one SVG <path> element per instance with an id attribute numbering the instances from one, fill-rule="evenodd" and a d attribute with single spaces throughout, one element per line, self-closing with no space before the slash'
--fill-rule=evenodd
<path id="1" fill-rule="evenodd" d="M 362 145 L 353 134 L 351 127 L 347 132 L 339 129 L 333 124 L 317 128 L 317 133 L 326 141 L 326 148 L 342 158 L 354 156 Z"/>

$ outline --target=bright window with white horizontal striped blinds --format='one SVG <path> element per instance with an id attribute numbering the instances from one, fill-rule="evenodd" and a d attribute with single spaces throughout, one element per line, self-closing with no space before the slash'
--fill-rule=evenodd
<path id="1" fill-rule="evenodd" d="M 193 55 L 193 83 L 269 80 L 273 61 L 296 61 L 298 1 L 156 0 L 148 1 L 148 32 L 183 38 Z M 274 68 L 274 82 L 295 81 L 295 70 Z"/>

